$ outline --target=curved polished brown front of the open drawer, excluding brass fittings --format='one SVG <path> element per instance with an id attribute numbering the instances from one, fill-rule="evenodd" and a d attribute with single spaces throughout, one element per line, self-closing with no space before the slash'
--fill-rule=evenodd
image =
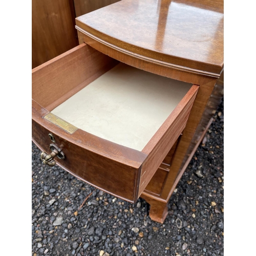
<path id="1" fill-rule="evenodd" d="M 41 151 L 50 153 L 51 132 L 65 159 L 57 164 L 77 178 L 107 193 L 135 202 L 140 166 L 146 155 L 78 129 L 72 136 L 44 119 L 49 113 L 32 101 L 32 139 Z"/>

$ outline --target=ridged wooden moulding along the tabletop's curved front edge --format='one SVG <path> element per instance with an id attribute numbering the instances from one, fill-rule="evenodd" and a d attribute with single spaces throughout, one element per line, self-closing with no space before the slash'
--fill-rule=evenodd
<path id="1" fill-rule="evenodd" d="M 198 70 L 198 69 L 194 69 L 194 68 L 189 68 L 189 67 L 185 67 L 185 66 L 175 65 L 173 63 L 161 61 L 161 60 L 158 60 L 158 59 L 153 59 L 153 58 L 141 55 L 139 53 L 134 53 L 134 52 L 128 51 L 128 50 L 126 50 L 124 48 L 120 48 L 117 45 L 113 45 L 110 42 L 105 41 L 105 40 L 103 40 L 103 39 L 101 39 L 101 38 L 99 38 L 99 37 L 89 33 L 88 31 L 83 30 L 81 27 L 79 27 L 79 24 L 82 24 L 82 23 L 78 19 L 76 19 L 76 24 L 78 24 L 78 25 L 76 25 L 76 29 L 78 30 L 78 33 L 81 32 L 82 34 L 84 34 L 84 35 L 90 37 L 91 39 L 99 42 L 101 45 L 104 45 L 104 46 L 106 46 L 108 48 L 111 48 L 111 49 L 113 49 L 113 50 L 115 50 L 117 52 L 123 53 L 125 55 L 131 56 L 131 57 L 134 57 L 134 58 L 137 58 L 137 59 L 141 59 L 141 60 L 144 60 L 146 62 L 154 63 L 154 64 L 156 64 L 158 66 L 172 68 L 172 69 L 176 69 L 176 70 L 180 70 L 180 71 L 185 71 L 185 72 L 189 72 L 189 73 L 193 73 L 193 74 L 198 74 L 198 75 L 205 75 L 207 77 L 212 77 L 212 78 L 219 78 L 220 73 L 222 71 L 222 69 L 221 69 L 220 73 L 206 72 L 206 71 L 202 71 L 202 70 Z M 88 28 L 90 28 L 90 27 L 88 27 Z M 84 42 L 86 42 L 87 44 L 91 45 L 90 42 L 88 42 L 88 41 L 84 41 Z M 79 41 L 79 43 L 81 43 L 81 42 Z M 95 45 L 91 45 L 91 46 L 95 48 Z M 133 48 L 133 47 L 130 46 L 130 48 Z M 99 50 L 97 48 L 95 48 L 95 49 Z M 106 51 L 105 52 L 101 51 L 101 52 L 104 53 L 104 54 L 109 55 L 110 57 L 114 58 L 114 56 L 111 56 L 109 54 L 109 52 L 106 52 Z M 172 58 L 172 60 L 173 59 L 174 59 L 174 57 Z M 122 61 L 122 60 L 120 60 L 120 61 Z M 125 60 L 123 60 L 122 62 L 125 62 Z"/>

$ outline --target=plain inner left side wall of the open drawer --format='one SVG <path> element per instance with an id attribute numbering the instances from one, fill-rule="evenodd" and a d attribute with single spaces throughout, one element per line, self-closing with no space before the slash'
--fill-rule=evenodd
<path id="1" fill-rule="evenodd" d="M 117 64 L 81 44 L 32 70 L 32 98 L 51 111 Z"/>

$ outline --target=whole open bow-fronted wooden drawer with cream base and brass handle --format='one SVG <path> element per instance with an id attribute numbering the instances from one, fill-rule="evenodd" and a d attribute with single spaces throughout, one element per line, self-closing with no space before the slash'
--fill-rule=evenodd
<path id="1" fill-rule="evenodd" d="M 198 88 L 81 44 L 32 70 L 32 140 L 46 163 L 52 150 L 60 158 L 51 163 L 135 202 L 184 129 Z"/>

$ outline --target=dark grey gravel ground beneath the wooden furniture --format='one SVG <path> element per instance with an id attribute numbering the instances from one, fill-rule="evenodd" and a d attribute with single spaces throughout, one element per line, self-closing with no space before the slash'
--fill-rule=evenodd
<path id="1" fill-rule="evenodd" d="M 143 199 L 124 202 L 42 164 L 32 143 L 32 255 L 223 255 L 223 122 L 222 100 L 164 224 Z"/>

